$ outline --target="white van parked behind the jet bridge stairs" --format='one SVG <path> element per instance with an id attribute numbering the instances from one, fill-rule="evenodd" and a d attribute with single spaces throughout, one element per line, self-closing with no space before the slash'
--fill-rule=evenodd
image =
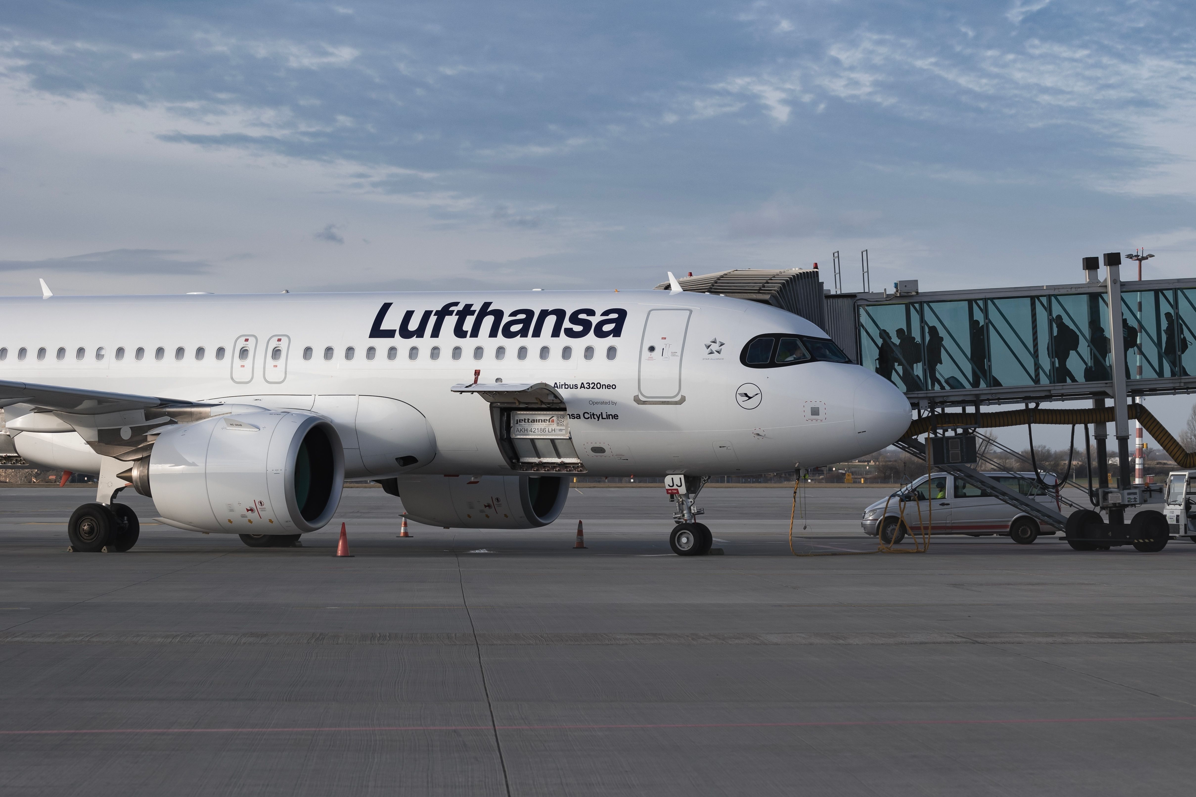
<path id="1" fill-rule="evenodd" d="M 1060 509 L 1055 489 L 1043 488 L 1032 472 L 986 472 L 984 476 L 996 479 L 1003 485 L 1017 490 L 1024 496 L 1032 496 L 1039 503 Z M 1054 473 L 1043 473 L 1042 480 L 1055 488 L 1058 478 Z M 899 523 L 899 498 L 908 497 L 905 504 L 905 523 Z M 915 502 L 916 497 L 916 502 Z M 889 509 L 885 509 L 887 503 Z M 930 515 L 933 504 L 934 514 Z M 919 520 L 919 507 L 922 514 Z M 884 515 L 884 517 L 881 517 Z M 919 529 L 919 523 L 928 525 L 930 534 L 969 534 L 971 537 L 1001 534 L 1013 538 L 1014 542 L 1030 545 L 1039 534 L 1052 535 L 1054 528 L 1041 528 L 1038 521 L 1017 507 L 996 498 L 988 490 L 969 484 L 948 473 L 934 473 L 927 479 L 922 477 L 913 484 L 902 488 L 889 498 L 883 498 L 864 510 L 865 534 L 881 539 L 889 544 L 899 542 L 905 532 Z"/>

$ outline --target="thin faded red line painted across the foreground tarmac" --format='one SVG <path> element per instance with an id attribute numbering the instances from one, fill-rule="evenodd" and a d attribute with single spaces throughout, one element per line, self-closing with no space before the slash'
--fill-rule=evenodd
<path id="1" fill-rule="evenodd" d="M 703 728 L 853 728 L 889 725 L 1021 725 L 1061 723 L 1119 723 L 1119 722 L 1192 722 L 1196 717 L 1063 717 L 1045 719 L 860 719 L 846 722 L 742 722 L 742 723 L 660 723 L 618 725 L 499 725 L 499 730 L 669 730 Z M 102 728 L 60 730 L 0 730 L 0 736 L 48 736 L 66 734 L 311 734 L 356 731 L 413 730 L 480 730 L 490 725 L 349 725 L 343 728 Z"/>

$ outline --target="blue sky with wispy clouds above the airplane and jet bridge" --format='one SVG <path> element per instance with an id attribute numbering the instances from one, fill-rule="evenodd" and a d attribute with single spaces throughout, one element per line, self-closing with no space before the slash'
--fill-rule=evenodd
<path id="1" fill-rule="evenodd" d="M 5 2 L 0 289 L 1196 255 L 1182 2 Z"/>

